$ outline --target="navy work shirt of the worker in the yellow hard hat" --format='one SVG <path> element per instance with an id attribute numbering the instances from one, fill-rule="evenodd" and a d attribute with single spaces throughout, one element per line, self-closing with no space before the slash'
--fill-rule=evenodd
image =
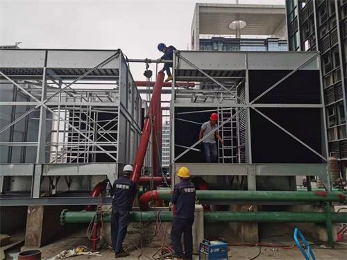
<path id="1" fill-rule="evenodd" d="M 195 187 L 190 180 L 175 185 L 172 204 L 176 205 L 175 218 L 194 219 Z"/>

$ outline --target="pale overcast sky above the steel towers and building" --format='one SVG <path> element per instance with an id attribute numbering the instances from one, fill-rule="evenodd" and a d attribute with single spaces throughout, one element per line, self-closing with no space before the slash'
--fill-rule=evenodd
<path id="1" fill-rule="evenodd" d="M 159 42 L 187 50 L 197 0 L 0 0 L 0 45 L 32 49 L 121 49 L 128 58 L 160 58 Z M 285 0 L 239 0 L 284 4 Z M 144 64 L 130 64 L 145 80 Z M 155 72 L 154 65 L 151 66 Z"/>

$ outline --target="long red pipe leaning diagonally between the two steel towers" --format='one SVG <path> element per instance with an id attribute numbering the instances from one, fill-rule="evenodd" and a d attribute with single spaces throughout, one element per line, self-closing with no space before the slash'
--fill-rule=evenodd
<path id="1" fill-rule="evenodd" d="M 147 146 L 149 144 L 149 137 L 151 135 L 151 119 L 153 119 L 153 108 L 157 107 L 158 102 L 160 103 L 160 96 L 162 93 L 162 84 L 164 83 L 164 73 L 159 72 L 157 79 L 155 81 L 153 95 L 151 98 L 151 103 L 149 105 L 149 114 L 146 116 L 144 121 L 144 128 L 142 129 L 142 135 L 139 139 L 139 147 L 137 148 L 137 153 L 134 162 L 134 171 L 130 179 L 137 183 L 139 181 L 139 176 L 141 173 L 142 166 L 144 164 L 144 155 L 146 155 Z"/>

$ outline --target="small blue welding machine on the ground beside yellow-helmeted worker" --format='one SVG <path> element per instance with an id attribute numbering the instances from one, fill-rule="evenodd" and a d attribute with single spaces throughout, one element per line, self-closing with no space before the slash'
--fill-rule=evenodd
<path id="1" fill-rule="evenodd" d="M 204 239 L 198 248 L 199 260 L 228 260 L 228 244 Z"/>

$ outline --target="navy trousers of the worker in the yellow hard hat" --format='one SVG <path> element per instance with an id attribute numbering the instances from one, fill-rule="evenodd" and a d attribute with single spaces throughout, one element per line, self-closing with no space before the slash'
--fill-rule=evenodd
<path id="1" fill-rule="evenodd" d="M 171 229 L 171 241 L 175 255 L 178 258 L 193 259 L 193 227 L 194 219 L 174 218 Z M 185 253 L 183 253 L 180 239 L 185 243 Z"/>

